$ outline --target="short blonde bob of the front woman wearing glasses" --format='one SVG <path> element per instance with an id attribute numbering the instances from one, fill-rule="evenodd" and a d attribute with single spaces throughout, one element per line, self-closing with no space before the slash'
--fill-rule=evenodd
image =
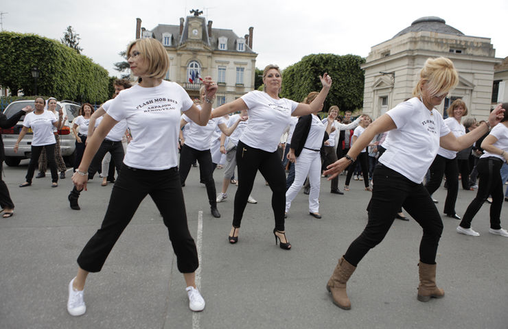
<path id="1" fill-rule="evenodd" d="M 148 60 L 148 77 L 154 79 L 163 79 L 170 68 L 170 59 L 164 46 L 159 40 L 154 38 L 137 39 L 130 42 L 127 47 L 127 56 L 130 55 L 130 49 L 136 45 L 139 56 Z"/>

